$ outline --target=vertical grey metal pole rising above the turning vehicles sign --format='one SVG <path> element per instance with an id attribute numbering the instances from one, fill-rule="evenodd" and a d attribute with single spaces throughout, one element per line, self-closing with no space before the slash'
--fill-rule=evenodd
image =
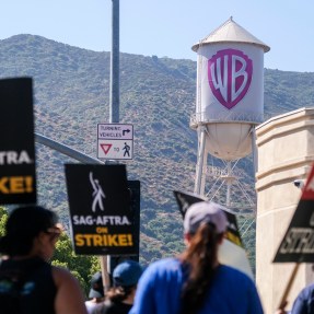
<path id="1" fill-rule="evenodd" d="M 109 123 L 119 121 L 119 0 L 113 1 Z"/>

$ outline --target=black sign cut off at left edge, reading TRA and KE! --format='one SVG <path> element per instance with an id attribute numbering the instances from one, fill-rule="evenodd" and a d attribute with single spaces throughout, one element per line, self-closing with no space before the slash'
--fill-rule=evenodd
<path id="1" fill-rule="evenodd" d="M 0 203 L 35 203 L 31 78 L 0 80 Z"/>

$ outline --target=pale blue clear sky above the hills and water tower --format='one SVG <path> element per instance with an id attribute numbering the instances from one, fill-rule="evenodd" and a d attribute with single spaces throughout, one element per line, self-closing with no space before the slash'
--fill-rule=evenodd
<path id="1" fill-rule="evenodd" d="M 32 34 L 111 50 L 112 0 L 1 2 L 0 39 Z M 232 15 L 270 46 L 266 68 L 314 72 L 314 1 L 119 0 L 119 5 L 121 53 L 196 61 L 190 47 Z"/>

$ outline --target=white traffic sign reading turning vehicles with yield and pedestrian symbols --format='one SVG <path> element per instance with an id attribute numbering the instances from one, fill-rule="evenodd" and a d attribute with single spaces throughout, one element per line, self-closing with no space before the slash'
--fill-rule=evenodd
<path id="1" fill-rule="evenodd" d="M 131 160 L 133 158 L 133 126 L 98 124 L 97 158 L 105 160 Z"/>

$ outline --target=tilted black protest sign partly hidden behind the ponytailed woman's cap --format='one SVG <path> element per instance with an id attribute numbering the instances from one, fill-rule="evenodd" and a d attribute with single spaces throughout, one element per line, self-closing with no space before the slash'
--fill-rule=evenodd
<path id="1" fill-rule="evenodd" d="M 173 193 L 183 218 L 185 217 L 187 209 L 193 203 L 207 200 L 205 197 L 191 193 L 178 191 L 178 190 L 174 190 Z M 225 237 L 232 243 L 242 246 L 235 214 L 231 212 L 229 209 L 224 208 L 223 206 L 221 206 L 221 208 L 223 209 L 228 219 L 228 230 L 225 233 Z"/>

